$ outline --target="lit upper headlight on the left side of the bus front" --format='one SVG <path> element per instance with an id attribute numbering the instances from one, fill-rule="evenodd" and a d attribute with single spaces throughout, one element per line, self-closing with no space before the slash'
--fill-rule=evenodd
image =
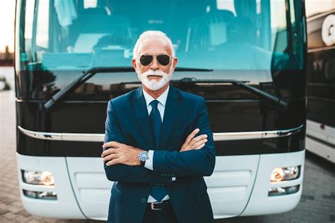
<path id="1" fill-rule="evenodd" d="M 49 171 L 22 171 L 22 175 L 25 183 L 54 185 L 54 176 Z"/>

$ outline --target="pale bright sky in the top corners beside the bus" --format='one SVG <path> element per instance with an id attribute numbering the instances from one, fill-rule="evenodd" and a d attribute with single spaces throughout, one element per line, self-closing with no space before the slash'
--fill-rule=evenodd
<path id="1" fill-rule="evenodd" d="M 324 11 L 324 8 L 335 8 L 335 0 L 305 0 L 305 2 L 307 16 Z M 0 0 L 0 52 L 5 51 L 6 45 L 9 46 L 10 52 L 14 50 L 14 14 L 15 0 Z"/>

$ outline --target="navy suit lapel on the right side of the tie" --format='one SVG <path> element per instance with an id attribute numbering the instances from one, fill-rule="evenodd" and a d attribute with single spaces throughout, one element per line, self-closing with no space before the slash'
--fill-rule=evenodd
<path id="1" fill-rule="evenodd" d="M 165 104 L 163 123 L 160 130 L 160 143 L 158 149 L 166 149 L 179 108 L 180 98 L 177 95 L 175 87 L 170 85 L 170 91 L 167 95 L 167 100 Z"/>

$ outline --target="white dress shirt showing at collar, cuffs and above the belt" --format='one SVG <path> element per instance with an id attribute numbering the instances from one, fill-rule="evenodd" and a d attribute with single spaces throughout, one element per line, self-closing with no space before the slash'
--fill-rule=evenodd
<path id="1" fill-rule="evenodd" d="M 146 108 L 148 109 L 148 115 L 150 115 L 151 110 L 153 110 L 153 107 L 150 104 L 151 101 L 157 100 L 158 101 L 157 108 L 160 113 L 160 118 L 162 119 L 162 122 L 164 118 L 165 104 L 166 104 L 167 94 L 169 93 L 169 89 L 170 89 L 170 86 L 167 86 L 166 90 L 156 99 L 153 98 L 151 95 L 149 95 L 148 93 L 146 93 L 146 91 L 142 89 L 144 99 L 146 99 Z M 153 150 L 148 151 L 149 159 L 147 159 L 146 164 L 144 164 L 144 167 L 150 169 L 151 171 L 153 171 L 153 152 L 154 152 Z M 175 178 L 172 178 L 172 180 L 175 180 Z M 169 199 L 170 199 L 169 195 L 166 195 L 163 198 L 163 200 L 169 200 Z M 153 196 L 149 195 L 148 202 L 157 202 L 157 200 L 155 200 Z"/>

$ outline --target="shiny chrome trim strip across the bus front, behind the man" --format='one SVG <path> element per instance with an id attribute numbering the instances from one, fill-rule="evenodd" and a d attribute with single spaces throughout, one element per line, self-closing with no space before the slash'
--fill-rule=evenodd
<path id="1" fill-rule="evenodd" d="M 277 137 L 288 137 L 299 132 L 304 125 L 288 130 L 256 131 L 256 132 L 214 132 L 214 141 L 230 141 L 245 139 L 270 139 Z M 54 141 L 79 141 L 79 142 L 103 142 L 105 134 L 90 133 L 58 133 L 58 132 L 35 132 L 25 130 L 18 126 L 23 134 L 34 139 L 54 140 Z"/>

